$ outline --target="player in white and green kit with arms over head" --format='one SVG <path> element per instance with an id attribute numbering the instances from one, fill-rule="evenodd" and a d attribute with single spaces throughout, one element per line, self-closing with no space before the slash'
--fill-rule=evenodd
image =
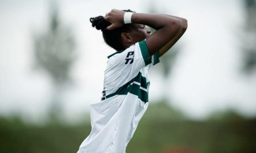
<path id="1" fill-rule="evenodd" d="M 187 20 L 113 9 L 90 22 L 117 52 L 108 56 L 101 101 L 90 105 L 92 131 L 78 153 L 125 153 L 148 107 L 148 70 L 180 39 Z"/>

